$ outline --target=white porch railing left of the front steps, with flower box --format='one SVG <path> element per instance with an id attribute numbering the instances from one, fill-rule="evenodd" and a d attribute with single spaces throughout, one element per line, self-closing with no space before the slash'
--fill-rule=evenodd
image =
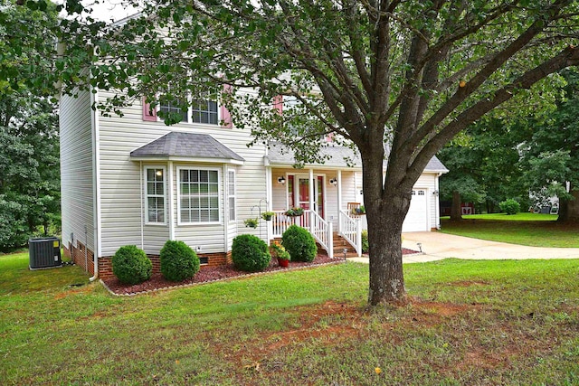
<path id="1" fill-rule="evenodd" d="M 307 229 L 314 239 L 323 249 L 327 250 L 327 256 L 334 258 L 334 237 L 331 221 L 325 221 L 317 212 L 306 210 L 301 216 L 288 216 L 285 211 L 273 211 L 275 214 L 271 217 L 271 237 L 281 237 L 283 232 L 287 231 L 290 225 L 296 224 Z"/>

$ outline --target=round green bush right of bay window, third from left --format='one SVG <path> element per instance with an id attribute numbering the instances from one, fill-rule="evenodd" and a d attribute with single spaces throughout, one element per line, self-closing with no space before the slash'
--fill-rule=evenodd
<path id="1" fill-rule="evenodd" d="M 232 259 L 235 268 L 257 272 L 270 265 L 270 249 L 260 238 L 252 234 L 241 234 L 233 239 Z"/>

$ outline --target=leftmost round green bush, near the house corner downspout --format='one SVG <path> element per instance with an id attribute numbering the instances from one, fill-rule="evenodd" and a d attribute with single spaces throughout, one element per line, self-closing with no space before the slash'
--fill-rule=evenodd
<path id="1" fill-rule="evenodd" d="M 153 264 L 135 245 L 120 247 L 112 257 L 112 273 L 121 283 L 138 284 L 151 278 Z"/>

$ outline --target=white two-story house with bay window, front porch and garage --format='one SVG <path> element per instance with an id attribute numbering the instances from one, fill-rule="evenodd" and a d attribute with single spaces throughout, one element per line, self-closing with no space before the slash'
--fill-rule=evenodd
<path id="1" fill-rule="evenodd" d="M 184 121 L 167 127 L 144 103 L 125 108 L 122 118 L 102 117 L 91 106 L 106 97 L 65 96 L 60 109 L 62 244 L 95 278 L 112 275 L 110 257 L 124 245 L 144 249 L 158 269 L 166 240 L 183 240 L 202 265 L 213 266 L 230 257 L 235 236 L 270 241 L 291 223 L 307 227 L 330 256 L 333 232 L 360 253 L 365 219 L 349 208 L 363 203 L 362 169 L 351 150 L 329 146 L 326 164 L 294 169 L 291 152 L 280 146 L 246 146 L 250 130 L 234 127 L 215 101 L 189 108 Z M 446 172 L 436 158 L 426 167 L 403 231 L 439 226 L 438 178 Z M 294 206 L 305 214 L 286 216 Z M 245 227 L 266 210 L 276 212 L 272 221 Z"/>

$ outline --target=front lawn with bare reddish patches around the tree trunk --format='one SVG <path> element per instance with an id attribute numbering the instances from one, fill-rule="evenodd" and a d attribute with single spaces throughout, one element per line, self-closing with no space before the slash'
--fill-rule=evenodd
<path id="1" fill-rule="evenodd" d="M 407 265 L 372 311 L 356 263 L 139 297 L 27 263 L 0 257 L 3 385 L 579 384 L 579 260 Z"/>

